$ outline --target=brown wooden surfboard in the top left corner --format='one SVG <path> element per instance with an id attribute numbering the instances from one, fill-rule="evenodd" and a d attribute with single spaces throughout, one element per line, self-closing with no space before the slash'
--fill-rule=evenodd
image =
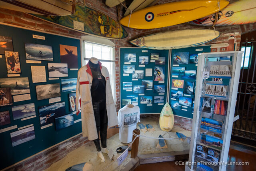
<path id="1" fill-rule="evenodd" d="M 61 0 L 0 0 L 0 7 L 32 14 L 66 16 L 75 12 L 76 3 Z"/>

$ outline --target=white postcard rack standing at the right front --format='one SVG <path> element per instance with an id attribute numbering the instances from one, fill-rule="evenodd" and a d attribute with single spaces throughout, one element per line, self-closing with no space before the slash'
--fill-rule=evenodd
<path id="1" fill-rule="evenodd" d="M 226 171 L 242 52 L 198 55 L 189 162 L 185 170 Z"/>

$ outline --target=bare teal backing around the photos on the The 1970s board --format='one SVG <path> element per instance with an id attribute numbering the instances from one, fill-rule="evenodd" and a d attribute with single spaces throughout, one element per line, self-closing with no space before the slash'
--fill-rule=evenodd
<path id="1" fill-rule="evenodd" d="M 38 35 L 38 36 L 44 36 L 45 40 L 35 39 L 32 37 L 32 35 Z M 0 170 L 4 169 L 5 167 L 8 167 L 18 161 L 21 161 L 22 159 L 25 159 L 31 155 L 34 155 L 48 147 L 51 147 L 52 145 L 55 145 L 61 141 L 64 141 L 65 139 L 68 139 L 74 135 L 77 135 L 82 132 L 81 128 L 81 122 L 74 123 L 74 125 L 71 125 L 70 127 L 66 127 L 64 129 L 60 129 L 56 131 L 55 129 L 55 123 L 53 123 L 52 126 L 46 127 L 44 129 L 41 129 L 40 126 L 40 118 L 38 113 L 38 107 L 43 105 L 48 105 L 49 100 L 43 99 L 43 100 L 37 100 L 36 97 L 36 85 L 43 85 L 43 84 L 60 84 L 61 87 L 61 79 L 59 80 L 49 80 L 48 76 L 48 67 L 47 63 L 60 63 L 60 44 L 62 45 L 69 45 L 69 46 L 76 46 L 78 50 L 78 68 L 81 67 L 81 58 L 80 58 L 80 40 L 72 39 L 72 38 L 66 38 L 63 36 L 56 36 L 52 34 L 46 34 L 21 28 L 15 28 L 10 26 L 4 26 L 0 25 L 0 36 L 9 36 L 12 37 L 13 42 L 13 49 L 14 52 L 19 52 L 20 56 L 20 68 L 21 68 L 21 74 L 20 77 L 28 77 L 29 80 L 29 86 L 30 86 L 30 95 L 31 99 L 26 101 L 19 101 L 14 102 L 13 105 L 6 105 L 1 106 L 0 111 L 6 111 L 8 110 L 10 112 L 10 124 L 2 125 L 0 126 L 0 129 L 8 128 L 14 125 L 17 125 L 18 128 L 24 127 L 26 125 L 33 124 L 34 125 L 34 132 L 35 132 L 35 139 L 32 139 L 30 141 L 21 143 L 19 145 L 16 145 L 12 147 L 12 140 L 10 137 L 10 133 L 18 131 L 18 129 L 12 129 L 9 131 L 4 131 L 0 133 Z M 25 53 L 25 43 L 34 43 L 34 44 L 42 44 L 42 45 L 49 45 L 52 46 L 53 49 L 53 61 L 42 61 L 42 64 L 28 64 L 26 63 L 26 53 Z M 30 66 L 45 66 L 46 68 L 46 81 L 44 83 L 32 83 L 32 75 L 31 75 L 31 68 Z M 7 70 L 6 70 L 6 60 L 5 56 L 2 55 L 2 58 L 0 58 L 0 78 L 9 78 L 7 76 Z M 68 77 L 65 78 L 77 78 L 77 70 L 70 70 L 68 69 Z M 60 88 L 61 89 L 61 88 Z M 65 102 L 65 112 L 62 113 L 62 115 L 66 115 L 69 113 L 72 113 L 70 111 L 69 106 L 69 98 L 68 94 L 71 93 L 71 91 L 62 92 L 61 91 L 61 101 Z M 28 103 L 34 103 L 35 109 L 36 109 L 36 117 L 27 119 L 22 121 L 21 119 L 14 120 L 13 114 L 12 114 L 12 107 L 17 105 L 23 105 Z M 74 121 L 81 118 L 81 115 L 74 116 Z"/>

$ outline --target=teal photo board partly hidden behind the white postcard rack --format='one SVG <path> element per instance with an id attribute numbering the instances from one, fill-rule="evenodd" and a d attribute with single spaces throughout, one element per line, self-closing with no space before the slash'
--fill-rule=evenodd
<path id="1" fill-rule="evenodd" d="M 169 103 L 174 115 L 193 118 L 197 71 L 195 55 L 207 52 L 211 52 L 210 46 L 172 50 Z"/>

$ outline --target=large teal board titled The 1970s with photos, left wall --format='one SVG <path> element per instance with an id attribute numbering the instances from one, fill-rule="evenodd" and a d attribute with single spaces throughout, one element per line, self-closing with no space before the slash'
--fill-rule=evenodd
<path id="1" fill-rule="evenodd" d="M 73 106 L 80 40 L 4 25 L 0 30 L 1 43 L 7 42 L 0 47 L 1 170 L 82 129 Z"/>

